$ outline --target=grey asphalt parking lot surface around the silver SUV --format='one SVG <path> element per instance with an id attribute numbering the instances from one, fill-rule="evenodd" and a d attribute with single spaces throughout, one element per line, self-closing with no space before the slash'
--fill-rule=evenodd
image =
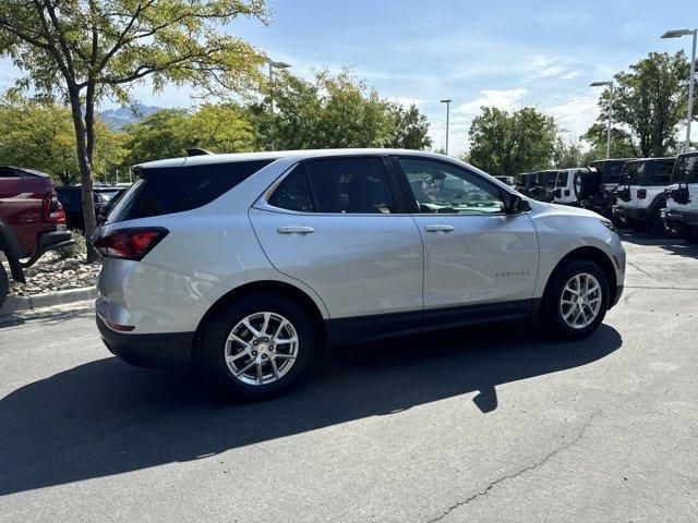
<path id="1" fill-rule="evenodd" d="M 344 351 L 243 404 L 92 314 L 0 326 L 0 521 L 696 521 L 698 246 L 627 235 L 589 340 L 520 324 Z"/>

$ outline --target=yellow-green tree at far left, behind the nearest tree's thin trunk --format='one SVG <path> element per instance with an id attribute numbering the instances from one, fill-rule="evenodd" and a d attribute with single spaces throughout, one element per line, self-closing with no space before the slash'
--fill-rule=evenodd
<path id="1" fill-rule="evenodd" d="M 95 178 L 121 161 L 121 137 L 101 122 L 96 125 Z M 16 94 L 0 98 L 0 163 L 47 172 L 64 185 L 80 181 L 75 132 L 70 109 Z"/>

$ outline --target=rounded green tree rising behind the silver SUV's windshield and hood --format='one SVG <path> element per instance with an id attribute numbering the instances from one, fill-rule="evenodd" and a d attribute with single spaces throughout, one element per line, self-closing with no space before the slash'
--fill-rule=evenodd
<path id="1" fill-rule="evenodd" d="M 483 107 L 472 120 L 468 136 L 468 158 L 473 166 L 491 174 L 512 177 L 550 167 L 557 126 L 553 117 L 532 107 L 512 113 Z"/>

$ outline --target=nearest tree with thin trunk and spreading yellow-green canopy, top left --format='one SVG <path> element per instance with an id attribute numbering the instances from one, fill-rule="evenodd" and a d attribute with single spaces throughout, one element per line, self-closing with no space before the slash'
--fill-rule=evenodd
<path id="1" fill-rule="evenodd" d="M 129 101 L 129 87 L 146 77 L 156 90 L 168 83 L 224 95 L 246 87 L 263 57 L 224 31 L 240 16 L 265 22 L 264 1 L 0 0 L 0 56 L 25 73 L 17 87 L 63 96 L 71 108 L 87 234 L 99 99 Z"/>

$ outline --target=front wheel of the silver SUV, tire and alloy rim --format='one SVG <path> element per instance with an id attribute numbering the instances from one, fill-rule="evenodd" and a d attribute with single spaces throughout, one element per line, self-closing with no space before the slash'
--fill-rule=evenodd
<path id="1" fill-rule="evenodd" d="M 556 338 L 593 333 L 609 308 L 609 283 L 593 262 L 573 260 L 551 276 L 541 304 L 541 327 Z"/>

